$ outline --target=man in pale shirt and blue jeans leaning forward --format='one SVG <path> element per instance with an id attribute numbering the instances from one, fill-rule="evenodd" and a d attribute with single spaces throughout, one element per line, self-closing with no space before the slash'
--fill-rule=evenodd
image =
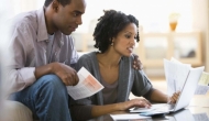
<path id="1" fill-rule="evenodd" d="M 41 121 L 72 120 L 65 86 L 78 82 L 73 69 L 78 54 L 70 34 L 82 23 L 85 9 L 85 0 L 45 0 L 43 9 L 13 19 L 11 99 L 29 107 Z M 141 62 L 135 64 L 139 68 Z"/>

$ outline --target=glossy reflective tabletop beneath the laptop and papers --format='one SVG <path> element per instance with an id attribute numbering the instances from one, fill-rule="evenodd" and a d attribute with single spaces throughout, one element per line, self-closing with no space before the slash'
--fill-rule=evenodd
<path id="1" fill-rule="evenodd" d="M 128 114 L 125 111 L 117 111 L 111 114 Z M 201 119 L 200 119 L 201 118 Z M 153 117 L 145 120 L 121 120 L 121 121 L 209 121 L 209 96 L 194 96 L 189 106 L 183 110 L 162 117 Z M 110 114 L 91 119 L 89 121 L 113 121 Z"/>

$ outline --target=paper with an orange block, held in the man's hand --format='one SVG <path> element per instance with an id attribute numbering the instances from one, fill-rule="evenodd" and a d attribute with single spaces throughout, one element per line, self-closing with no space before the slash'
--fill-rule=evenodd
<path id="1" fill-rule="evenodd" d="M 66 86 L 73 99 L 87 98 L 103 89 L 103 86 L 85 67 L 81 67 L 77 75 L 79 82 L 76 86 Z"/>

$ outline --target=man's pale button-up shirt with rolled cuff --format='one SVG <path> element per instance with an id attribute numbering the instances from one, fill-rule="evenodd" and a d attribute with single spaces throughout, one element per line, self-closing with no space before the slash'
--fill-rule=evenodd
<path id="1" fill-rule="evenodd" d="M 68 66 L 76 64 L 79 56 L 70 35 L 57 31 L 54 33 L 53 47 L 47 52 L 50 44 L 46 30 L 44 9 L 21 13 L 13 19 L 10 31 L 10 48 L 12 70 L 9 73 L 9 88 L 12 92 L 32 85 L 36 78 L 35 67 L 52 62 L 64 63 Z M 47 53 L 51 56 L 47 56 Z"/>

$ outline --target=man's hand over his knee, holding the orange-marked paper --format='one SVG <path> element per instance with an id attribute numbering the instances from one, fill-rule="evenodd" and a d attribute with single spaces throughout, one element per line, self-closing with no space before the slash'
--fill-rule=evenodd
<path id="1" fill-rule="evenodd" d="M 79 81 L 77 72 L 62 63 L 53 63 L 53 72 L 66 86 L 76 86 Z"/>

